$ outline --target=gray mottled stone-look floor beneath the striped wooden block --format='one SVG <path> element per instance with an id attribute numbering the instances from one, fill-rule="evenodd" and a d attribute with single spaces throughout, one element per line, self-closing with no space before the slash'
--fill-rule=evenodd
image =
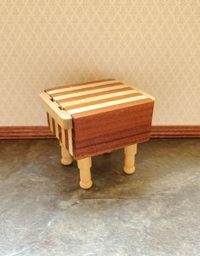
<path id="1" fill-rule="evenodd" d="M 0 141 L 0 255 L 200 255 L 200 140 L 93 159 L 94 186 L 60 165 L 55 140 Z"/>

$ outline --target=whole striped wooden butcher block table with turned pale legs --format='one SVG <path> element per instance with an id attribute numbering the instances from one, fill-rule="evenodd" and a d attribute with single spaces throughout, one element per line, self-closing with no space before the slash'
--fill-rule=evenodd
<path id="1" fill-rule="evenodd" d="M 137 143 L 149 140 L 154 97 L 116 79 L 45 89 L 40 97 L 50 130 L 59 139 L 61 163 L 77 160 L 80 186 L 92 186 L 91 157 L 124 148 L 123 171 L 134 172 Z"/>

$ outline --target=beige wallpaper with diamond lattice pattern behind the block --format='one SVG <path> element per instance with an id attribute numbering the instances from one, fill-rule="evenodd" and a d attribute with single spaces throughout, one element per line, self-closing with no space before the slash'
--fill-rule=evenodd
<path id="1" fill-rule="evenodd" d="M 106 78 L 155 96 L 154 125 L 200 125 L 200 1 L 0 1 L 0 125 L 45 125 L 43 88 Z"/>

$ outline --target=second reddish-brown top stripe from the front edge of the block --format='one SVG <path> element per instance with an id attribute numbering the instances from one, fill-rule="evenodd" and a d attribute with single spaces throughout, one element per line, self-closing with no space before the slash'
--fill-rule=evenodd
<path id="1" fill-rule="evenodd" d="M 117 100 L 126 99 L 126 98 L 129 98 L 129 97 L 141 96 L 141 95 L 142 94 L 140 92 L 137 92 L 137 93 L 132 93 L 132 94 L 129 94 L 129 95 L 116 96 L 116 97 L 97 100 L 97 101 L 93 101 L 93 102 L 85 102 L 85 103 L 81 103 L 81 104 L 66 107 L 65 109 L 70 110 L 70 109 L 75 109 L 75 108 L 82 108 L 82 107 L 92 106 L 92 105 L 100 104 L 100 103 L 104 103 L 104 102 L 113 102 L 113 101 L 117 101 Z"/>

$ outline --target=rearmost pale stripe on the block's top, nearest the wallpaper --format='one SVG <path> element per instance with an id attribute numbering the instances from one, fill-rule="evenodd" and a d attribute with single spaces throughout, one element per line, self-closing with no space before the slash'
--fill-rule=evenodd
<path id="1" fill-rule="evenodd" d="M 49 90 L 48 94 L 52 95 L 52 94 L 60 93 L 60 92 L 67 92 L 67 91 L 71 91 L 71 90 L 79 90 L 79 89 L 84 89 L 84 88 L 92 88 L 94 86 L 101 86 L 101 85 L 106 85 L 106 84 L 116 84 L 116 83 L 120 83 L 120 81 L 113 80 L 113 81 L 106 81 L 106 82 L 100 82 L 100 83 L 94 83 L 94 84 L 84 84 L 84 85 L 78 85 L 78 86 L 71 85 L 71 87 L 67 87 L 67 88 L 63 88 L 63 89 Z"/>

